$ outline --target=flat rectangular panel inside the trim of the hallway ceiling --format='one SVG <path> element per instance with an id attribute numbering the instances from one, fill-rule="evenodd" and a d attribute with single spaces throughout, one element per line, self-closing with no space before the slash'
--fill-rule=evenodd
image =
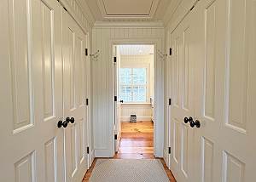
<path id="1" fill-rule="evenodd" d="M 149 15 L 154 0 L 102 0 L 108 15 Z"/>

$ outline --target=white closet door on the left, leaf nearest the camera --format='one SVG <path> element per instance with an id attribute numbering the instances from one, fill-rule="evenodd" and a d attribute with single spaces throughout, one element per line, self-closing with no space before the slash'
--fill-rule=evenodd
<path id="1" fill-rule="evenodd" d="M 57 128 L 61 6 L 51 0 L 4 0 L 0 7 L 0 181 L 64 181 L 63 129 Z"/>

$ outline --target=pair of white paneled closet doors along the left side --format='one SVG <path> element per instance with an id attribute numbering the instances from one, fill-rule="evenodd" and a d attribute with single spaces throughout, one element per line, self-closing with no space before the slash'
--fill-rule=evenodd
<path id="1" fill-rule="evenodd" d="M 88 37 L 55 0 L 5 0 L 0 8 L 0 181 L 81 181 L 89 165 Z"/>

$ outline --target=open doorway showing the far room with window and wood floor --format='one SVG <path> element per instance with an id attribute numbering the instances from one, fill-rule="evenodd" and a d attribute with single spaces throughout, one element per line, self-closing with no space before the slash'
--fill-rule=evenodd
<path id="1" fill-rule="evenodd" d="M 115 158 L 154 158 L 154 45 L 113 49 Z"/>

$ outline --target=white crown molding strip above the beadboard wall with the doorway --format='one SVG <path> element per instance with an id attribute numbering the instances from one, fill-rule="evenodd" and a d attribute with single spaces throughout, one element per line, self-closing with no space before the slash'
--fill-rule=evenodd
<path id="1" fill-rule="evenodd" d="M 96 21 L 94 28 L 99 27 L 160 27 L 164 28 L 164 23 L 158 21 Z"/>

